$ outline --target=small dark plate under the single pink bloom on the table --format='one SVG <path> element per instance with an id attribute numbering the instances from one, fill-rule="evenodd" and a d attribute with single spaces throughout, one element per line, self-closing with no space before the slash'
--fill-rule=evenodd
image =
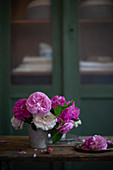
<path id="1" fill-rule="evenodd" d="M 75 149 L 77 151 L 81 151 L 81 152 L 88 152 L 88 153 L 102 153 L 102 152 L 109 152 L 109 151 L 113 151 L 113 148 L 107 148 L 105 150 L 93 150 L 93 149 L 83 149 L 82 148 L 82 144 L 76 144 L 75 145 Z"/>

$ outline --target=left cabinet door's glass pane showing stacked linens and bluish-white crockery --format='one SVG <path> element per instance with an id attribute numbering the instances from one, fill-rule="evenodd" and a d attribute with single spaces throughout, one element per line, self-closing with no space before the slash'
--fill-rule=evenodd
<path id="1" fill-rule="evenodd" d="M 11 5 L 11 84 L 51 84 L 51 1 L 12 0 Z"/>

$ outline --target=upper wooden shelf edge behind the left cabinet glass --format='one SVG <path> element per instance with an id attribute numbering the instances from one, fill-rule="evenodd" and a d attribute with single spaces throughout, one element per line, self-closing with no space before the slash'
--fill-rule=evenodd
<path id="1" fill-rule="evenodd" d="M 12 24 L 51 23 L 51 20 L 12 20 Z"/>

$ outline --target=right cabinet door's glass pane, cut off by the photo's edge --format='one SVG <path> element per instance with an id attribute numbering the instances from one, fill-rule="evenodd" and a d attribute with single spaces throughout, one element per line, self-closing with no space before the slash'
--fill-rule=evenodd
<path id="1" fill-rule="evenodd" d="M 80 1 L 81 84 L 113 84 L 113 1 Z"/>

